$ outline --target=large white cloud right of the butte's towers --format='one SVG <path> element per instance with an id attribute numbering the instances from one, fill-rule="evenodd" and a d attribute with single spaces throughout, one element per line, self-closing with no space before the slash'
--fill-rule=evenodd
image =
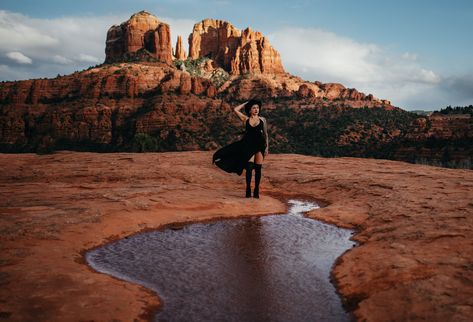
<path id="1" fill-rule="evenodd" d="M 361 43 L 321 29 L 284 28 L 271 35 L 284 67 L 307 80 L 342 83 L 403 108 L 430 95 L 442 82 L 423 68 L 415 53 L 396 54 L 377 44 Z M 427 108 L 429 97 L 424 97 Z"/>

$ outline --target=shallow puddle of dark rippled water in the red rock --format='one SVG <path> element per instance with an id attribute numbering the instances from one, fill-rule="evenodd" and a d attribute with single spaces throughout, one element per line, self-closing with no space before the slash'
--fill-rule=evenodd
<path id="1" fill-rule="evenodd" d="M 351 230 L 286 215 L 194 223 L 125 238 L 86 254 L 97 271 L 162 300 L 157 321 L 349 321 L 330 270 Z"/>

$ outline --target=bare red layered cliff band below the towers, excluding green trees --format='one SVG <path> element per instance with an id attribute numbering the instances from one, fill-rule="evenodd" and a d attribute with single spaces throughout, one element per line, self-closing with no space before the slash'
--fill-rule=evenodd
<path id="1" fill-rule="evenodd" d="M 201 118 L 203 112 L 218 109 L 212 117 L 226 118 L 232 105 L 254 96 L 265 100 L 268 112 L 282 106 L 297 110 L 337 104 L 394 108 L 356 90 L 338 85 L 334 92 L 333 87 L 263 74 L 232 76 L 216 84 L 160 62 L 105 64 L 55 79 L 3 83 L 0 145 L 15 151 L 59 147 L 59 142 L 71 148 L 86 148 L 87 143 L 121 149 L 138 133 L 180 135 L 183 129 L 195 129 L 198 137 L 169 149 L 200 149 L 215 146 L 211 142 L 216 140 Z"/>

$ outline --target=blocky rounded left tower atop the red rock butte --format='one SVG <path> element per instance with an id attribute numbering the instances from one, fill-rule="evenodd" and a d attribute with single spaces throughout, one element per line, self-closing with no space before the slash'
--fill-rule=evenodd
<path id="1" fill-rule="evenodd" d="M 159 61 L 172 63 L 169 25 L 146 11 L 140 11 L 107 32 L 105 62 L 121 62 L 140 50 L 146 50 Z"/>

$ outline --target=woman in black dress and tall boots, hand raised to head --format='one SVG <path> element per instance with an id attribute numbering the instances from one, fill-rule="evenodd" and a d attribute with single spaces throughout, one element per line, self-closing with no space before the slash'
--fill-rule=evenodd
<path id="1" fill-rule="evenodd" d="M 241 110 L 245 108 L 245 114 Z M 259 115 L 261 101 L 252 99 L 233 109 L 245 122 L 245 135 L 240 141 L 231 143 L 217 150 L 213 163 L 226 172 L 241 175 L 246 170 L 246 198 L 251 197 L 251 177 L 255 169 L 255 188 L 253 197 L 259 198 L 259 184 L 263 160 L 268 155 L 268 125 L 266 119 Z"/>

